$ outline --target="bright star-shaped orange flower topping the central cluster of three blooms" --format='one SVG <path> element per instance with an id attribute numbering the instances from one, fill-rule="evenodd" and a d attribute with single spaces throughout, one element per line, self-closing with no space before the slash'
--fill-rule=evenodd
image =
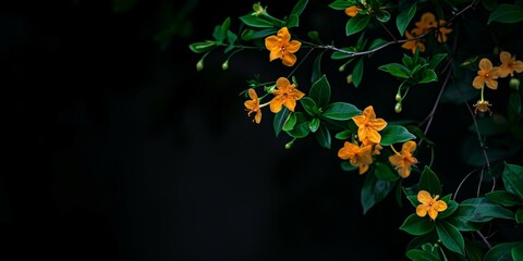
<path id="1" fill-rule="evenodd" d="M 376 119 L 373 105 L 365 108 L 361 115 L 353 116 L 352 120 L 357 125 L 357 137 L 360 140 L 368 138 L 368 140 L 375 144 L 381 141 L 381 135 L 378 132 L 387 126 L 387 122 L 384 119 Z"/>

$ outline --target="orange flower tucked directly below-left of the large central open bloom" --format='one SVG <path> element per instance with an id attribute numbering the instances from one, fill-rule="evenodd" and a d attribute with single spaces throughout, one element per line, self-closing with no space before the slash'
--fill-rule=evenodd
<path id="1" fill-rule="evenodd" d="M 372 145 L 358 147 L 357 145 L 345 141 L 343 148 L 338 150 L 338 157 L 342 160 L 349 160 L 353 166 L 360 167 L 360 175 L 368 170 L 368 165 L 373 163 Z"/>

